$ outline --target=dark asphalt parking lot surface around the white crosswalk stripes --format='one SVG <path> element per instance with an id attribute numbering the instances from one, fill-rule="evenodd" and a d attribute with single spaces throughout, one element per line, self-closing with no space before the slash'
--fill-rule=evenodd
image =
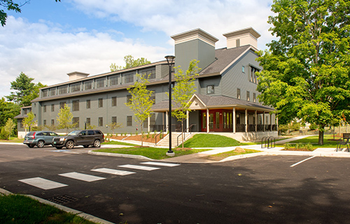
<path id="1" fill-rule="evenodd" d="M 59 152 L 6 145 L 0 145 L 0 158 L 0 188 L 43 199 L 69 195 L 76 201 L 64 206 L 113 223 L 347 223 L 350 219 L 349 158 L 265 155 L 165 167 L 88 155 L 80 149 Z M 138 166 L 158 169 L 135 169 Z M 134 174 L 95 171 L 101 169 Z M 71 173 L 102 179 L 81 181 L 68 178 Z M 44 190 L 20 181 L 33 178 L 65 186 Z"/>

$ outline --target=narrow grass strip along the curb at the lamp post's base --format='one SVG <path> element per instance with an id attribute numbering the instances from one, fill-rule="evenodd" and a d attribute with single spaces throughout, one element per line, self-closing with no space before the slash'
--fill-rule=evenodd
<path id="1" fill-rule="evenodd" d="M 135 147 L 135 148 L 100 148 L 98 150 L 95 150 L 94 152 L 101 152 L 101 153 L 120 153 L 120 154 L 130 154 L 130 155 L 143 155 L 147 158 L 153 159 L 153 160 L 162 160 L 169 158 L 169 156 L 166 155 L 169 148 L 153 148 L 153 147 Z M 210 149 L 184 149 L 181 148 L 174 148 L 173 151 L 175 153 L 175 156 L 180 155 L 189 155 L 193 153 L 200 153 L 203 151 L 209 151 Z"/>

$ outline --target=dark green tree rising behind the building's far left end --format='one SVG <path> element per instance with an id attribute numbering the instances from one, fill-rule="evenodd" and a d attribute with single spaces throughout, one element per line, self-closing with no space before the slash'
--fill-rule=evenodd
<path id="1" fill-rule="evenodd" d="M 29 78 L 25 73 L 21 72 L 20 76 L 11 82 L 11 90 L 15 90 L 15 92 L 11 92 L 6 98 L 20 106 L 30 106 L 31 100 L 39 96 L 39 88 L 46 86 L 40 82 L 32 83 L 33 80 L 34 78 Z"/>

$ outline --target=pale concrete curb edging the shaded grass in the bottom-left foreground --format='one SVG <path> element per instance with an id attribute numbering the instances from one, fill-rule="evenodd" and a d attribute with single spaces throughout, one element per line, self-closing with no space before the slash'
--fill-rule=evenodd
<path id="1" fill-rule="evenodd" d="M 13 193 L 10 193 L 8 190 L 4 190 L 2 188 L 0 188 L 0 194 L 2 194 L 2 195 L 13 195 Z M 36 201 L 38 201 L 38 202 L 40 202 L 42 204 L 48 204 L 48 205 L 50 205 L 52 207 L 55 207 L 55 208 L 57 208 L 59 210 L 65 211 L 67 213 L 71 213 L 71 214 L 74 214 L 76 216 L 80 216 L 81 218 L 85 218 L 87 221 L 92 221 L 94 223 L 102 223 L 102 224 L 115 224 L 115 223 L 111 223 L 109 221 L 106 221 L 106 220 L 104 220 L 102 218 L 97 218 L 96 216 L 92 216 L 90 214 L 85 214 L 85 213 L 83 213 L 83 211 L 78 211 L 78 210 L 75 210 L 75 209 L 64 207 L 64 206 L 62 206 L 60 204 L 55 204 L 53 202 L 44 200 L 44 199 L 42 199 L 40 197 L 36 197 L 34 195 L 24 195 L 24 196 L 30 197 L 31 199 L 36 200 Z"/>

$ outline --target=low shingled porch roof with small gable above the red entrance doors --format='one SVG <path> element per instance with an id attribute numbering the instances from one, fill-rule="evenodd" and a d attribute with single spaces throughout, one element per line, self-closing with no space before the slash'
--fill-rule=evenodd
<path id="1" fill-rule="evenodd" d="M 190 109 L 191 110 L 200 110 L 200 109 L 221 109 L 228 107 L 239 107 L 244 109 L 253 109 L 260 111 L 274 111 L 269 106 L 263 106 L 258 103 L 248 102 L 242 99 L 235 99 L 232 97 L 225 96 L 205 96 L 202 94 L 193 94 L 193 97 L 190 99 L 192 102 Z M 176 105 L 172 104 L 173 109 L 176 109 Z M 169 111 L 169 100 L 162 101 L 158 104 L 153 105 L 152 110 L 155 112 L 164 112 Z"/>

